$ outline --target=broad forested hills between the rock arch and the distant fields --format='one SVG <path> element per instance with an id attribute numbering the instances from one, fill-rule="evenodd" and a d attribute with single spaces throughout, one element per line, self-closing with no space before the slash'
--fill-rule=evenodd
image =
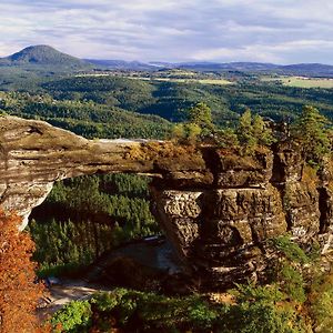
<path id="1" fill-rule="evenodd" d="M 98 124 L 108 127 L 108 122 L 112 122 L 114 117 L 118 118 L 114 124 L 121 122 L 124 127 L 127 121 L 131 122 L 131 127 L 127 129 L 131 131 L 131 137 L 140 135 L 138 129 L 131 128 L 137 124 L 141 128 L 145 123 L 145 128 L 158 129 L 153 133 L 148 129 L 143 130 L 143 137 L 163 137 L 168 132 L 168 122 L 162 119 L 182 121 L 186 118 L 186 110 L 200 101 L 209 104 L 213 121 L 220 127 L 233 125 L 246 108 L 275 121 L 295 119 L 304 104 L 317 108 L 329 119 L 333 111 L 332 89 L 284 87 L 246 77 L 242 77 L 234 84 L 203 84 L 117 75 L 56 75 L 36 84 L 22 88 L 20 91 L 24 93 L 21 94 L 3 92 L 1 108 L 9 113 L 20 112 L 23 117 L 39 115 L 90 138 L 125 135 L 121 130 L 112 131 L 107 128 L 101 132 L 95 128 Z M 0 85 L 1 88 L 7 90 L 4 85 Z M 3 103 L 7 99 L 24 100 L 29 105 L 18 111 L 18 105 L 10 108 Z"/>

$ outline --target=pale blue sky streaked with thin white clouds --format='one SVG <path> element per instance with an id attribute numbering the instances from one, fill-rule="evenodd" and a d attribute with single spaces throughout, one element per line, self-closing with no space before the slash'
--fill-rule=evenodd
<path id="1" fill-rule="evenodd" d="M 331 0 L 0 0 L 0 57 L 333 64 Z"/>

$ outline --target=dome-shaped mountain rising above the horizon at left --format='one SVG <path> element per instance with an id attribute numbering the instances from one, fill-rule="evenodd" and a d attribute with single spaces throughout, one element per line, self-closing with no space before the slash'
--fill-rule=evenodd
<path id="1" fill-rule="evenodd" d="M 84 60 L 59 52 L 49 46 L 28 47 L 6 58 L 0 58 L 0 67 L 49 67 L 58 69 L 89 69 Z"/>

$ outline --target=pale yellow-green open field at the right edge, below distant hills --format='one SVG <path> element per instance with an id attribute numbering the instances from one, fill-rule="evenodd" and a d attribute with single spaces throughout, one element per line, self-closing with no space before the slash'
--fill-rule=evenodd
<path id="1" fill-rule="evenodd" d="M 279 78 L 262 78 L 262 81 L 266 82 L 281 82 L 286 87 L 297 88 L 333 88 L 333 79 L 316 79 L 304 77 L 279 77 Z"/>

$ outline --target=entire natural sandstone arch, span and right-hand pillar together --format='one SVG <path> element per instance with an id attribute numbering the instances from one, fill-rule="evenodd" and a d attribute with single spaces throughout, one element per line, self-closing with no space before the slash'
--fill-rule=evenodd
<path id="1" fill-rule="evenodd" d="M 203 283 L 258 279 L 265 241 L 291 232 L 330 250 L 333 163 L 316 175 L 287 143 L 253 157 L 170 142 L 89 141 L 44 122 L 0 119 L 0 200 L 22 216 L 54 181 L 97 172 L 150 174 L 152 209 L 184 266 Z"/>

